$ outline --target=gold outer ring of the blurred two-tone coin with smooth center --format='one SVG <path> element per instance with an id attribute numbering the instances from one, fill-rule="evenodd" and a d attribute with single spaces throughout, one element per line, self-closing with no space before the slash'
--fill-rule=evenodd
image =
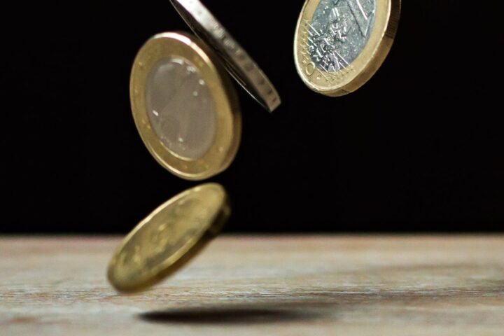
<path id="1" fill-rule="evenodd" d="M 192 62 L 211 92 L 216 111 L 214 142 L 197 160 L 170 151 L 151 127 L 146 109 L 146 82 L 160 59 L 183 57 Z M 235 88 L 215 52 L 198 38 L 182 32 L 157 34 L 144 44 L 134 60 L 130 79 L 133 118 L 144 144 L 162 167 L 187 180 L 202 180 L 223 172 L 237 153 L 241 139 L 241 112 Z"/>

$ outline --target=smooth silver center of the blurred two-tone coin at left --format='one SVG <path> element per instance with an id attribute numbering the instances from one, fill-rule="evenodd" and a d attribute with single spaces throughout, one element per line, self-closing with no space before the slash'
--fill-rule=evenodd
<path id="1" fill-rule="evenodd" d="M 146 108 L 155 134 L 172 153 L 197 160 L 214 142 L 214 101 L 187 59 L 162 59 L 153 66 L 146 83 Z"/>

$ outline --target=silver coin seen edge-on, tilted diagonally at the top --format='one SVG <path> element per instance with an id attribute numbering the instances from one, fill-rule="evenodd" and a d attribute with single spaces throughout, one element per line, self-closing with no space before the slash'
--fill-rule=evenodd
<path id="1" fill-rule="evenodd" d="M 170 1 L 195 34 L 216 50 L 226 69 L 255 100 L 269 112 L 281 104 L 265 73 L 200 1 Z"/>

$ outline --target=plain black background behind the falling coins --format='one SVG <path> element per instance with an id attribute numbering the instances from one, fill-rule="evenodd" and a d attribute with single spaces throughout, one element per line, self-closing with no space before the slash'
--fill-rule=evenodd
<path id="1" fill-rule="evenodd" d="M 339 98 L 295 72 L 302 0 L 205 3 L 283 99 L 270 115 L 237 86 L 241 148 L 212 179 L 228 232 L 502 230 L 502 1 L 405 1 L 384 65 Z M 189 31 L 169 1 L 4 9 L 1 232 L 126 232 L 195 186 L 151 158 L 130 112 L 137 50 Z"/>

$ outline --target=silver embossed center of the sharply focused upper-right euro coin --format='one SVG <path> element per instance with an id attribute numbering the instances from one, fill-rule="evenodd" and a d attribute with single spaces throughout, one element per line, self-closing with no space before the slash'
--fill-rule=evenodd
<path id="1" fill-rule="evenodd" d="M 311 60 L 325 72 L 339 71 L 363 50 L 374 24 L 376 0 L 321 0 L 309 26 Z"/>

